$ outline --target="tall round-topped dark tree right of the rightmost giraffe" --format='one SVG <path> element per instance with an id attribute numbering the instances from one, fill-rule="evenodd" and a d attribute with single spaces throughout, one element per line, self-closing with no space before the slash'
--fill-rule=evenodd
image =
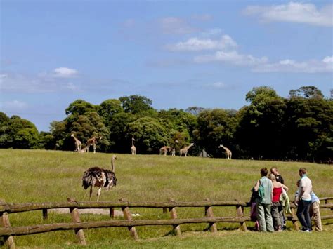
<path id="1" fill-rule="evenodd" d="M 244 158 L 278 159 L 282 149 L 283 119 L 285 102 L 275 90 L 261 86 L 247 93 L 251 102 L 240 109 L 237 126 L 237 151 Z"/>

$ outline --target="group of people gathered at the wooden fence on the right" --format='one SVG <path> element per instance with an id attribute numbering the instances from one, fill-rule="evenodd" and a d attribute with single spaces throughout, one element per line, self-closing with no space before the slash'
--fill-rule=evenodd
<path id="1" fill-rule="evenodd" d="M 315 230 L 322 231 L 320 201 L 313 192 L 312 182 L 306 173 L 306 168 L 299 169 L 301 179 L 296 182 L 294 198 L 296 214 L 302 225 L 300 231 L 312 231 L 311 217 L 315 221 Z M 267 168 L 261 168 L 260 174 L 261 179 L 252 188 L 251 218 L 259 231 L 282 231 L 286 229 L 285 213 L 292 213 L 287 194 L 289 188 L 276 167 L 270 169 L 270 174 Z"/>

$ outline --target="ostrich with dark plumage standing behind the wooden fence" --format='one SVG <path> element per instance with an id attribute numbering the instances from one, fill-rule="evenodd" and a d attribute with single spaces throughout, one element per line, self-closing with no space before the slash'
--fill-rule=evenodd
<path id="1" fill-rule="evenodd" d="M 91 200 L 91 194 L 93 194 L 93 187 L 98 187 L 97 192 L 97 201 L 100 197 L 100 191 L 102 187 L 105 187 L 107 190 L 112 189 L 113 186 L 117 185 L 117 178 L 115 175 L 115 160 L 117 156 L 112 156 L 111 160 L 111 170 L 106 170 L 99 167 L 89 168 L 84 172 L 82 177 L 82 186 L 84 189 L 88 189 L 90 186 L 90 196 L 89 201 Z"/>

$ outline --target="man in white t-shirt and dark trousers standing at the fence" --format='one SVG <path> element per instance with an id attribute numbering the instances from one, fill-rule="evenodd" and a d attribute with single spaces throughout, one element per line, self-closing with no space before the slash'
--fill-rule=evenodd
<path id="1" fill-rule="evenodd" d="M 299 222 L 302 224 L 301 231 L 312 231 L 311 229 L 311 217 L 310 217 L 310 206 L 311 206 L 311 192 L 312 192 L 312 182 L 308 175 L 306 175 L 306 168 L 299 169 L 299 176 L 301 180 L 299 181 L 299 192 L 296 196 L 295 205 L 297 205 L 297 217 Z"/>

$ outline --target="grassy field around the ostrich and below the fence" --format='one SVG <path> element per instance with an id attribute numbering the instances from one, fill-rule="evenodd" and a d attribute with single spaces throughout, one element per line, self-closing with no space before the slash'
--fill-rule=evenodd
<path id="1" fill-rule="evenodd" d="M 11 203 L 88 201 L 89 191 L 81 187 L 84 170 L 91 166 L 110 168 L 112 154 L 77 154 L 41 150 L 0 149 L 0 198 Z M 278 167 L 294 198 L 298 169 L 305 167 L 319 197 L 333 196 L 333 166 L 313 163 L 204 159 L 196 157 L 119 154 L 115 165 L 118 184 L 112 191 L 102 191 L 100 201 L 249 201 L 250 189 L 259 179 L 260 168 Z M 96 189 L 93 200 L 96 200 Z M 131 209 L 141 216 L 136 219 L 169 218 L 162 210 Z M 322 210 L 322 215 L 330 210 Z M 178 217 L 203 217 L 201 208 L 178 208 Z M 246 208 L 245 213 L 249 210 Z M 214 215 L 235 216 L 235 208 L 214 208 Z M 82 221 L 108 220 L 107 215 L 81 215 Z M 11 214 L 12 226 L 70 222 L 70 215 L 50 213 L 42 220 L 41 211 Z M 252 223 L 248 227 L 251 229 Z M 288 223 L 288 227 L 290 229 Z M 138 227 L 140 241 L 133 241 L 126 228 L 85 230 L 88 248 L 312 248 L 333 243 L 333 221 L 325 221 L 325 231 L 302 234 L 296 231 L 259 234 L 237 231 L 238 224 L 218 224 L 218 233 L 203 230 L 207 224 L 181 225 L 183 236 L 169 236 L 171 227 Z M 15 237 L 18 247 L 78 248 L 74 231 Z"/>

